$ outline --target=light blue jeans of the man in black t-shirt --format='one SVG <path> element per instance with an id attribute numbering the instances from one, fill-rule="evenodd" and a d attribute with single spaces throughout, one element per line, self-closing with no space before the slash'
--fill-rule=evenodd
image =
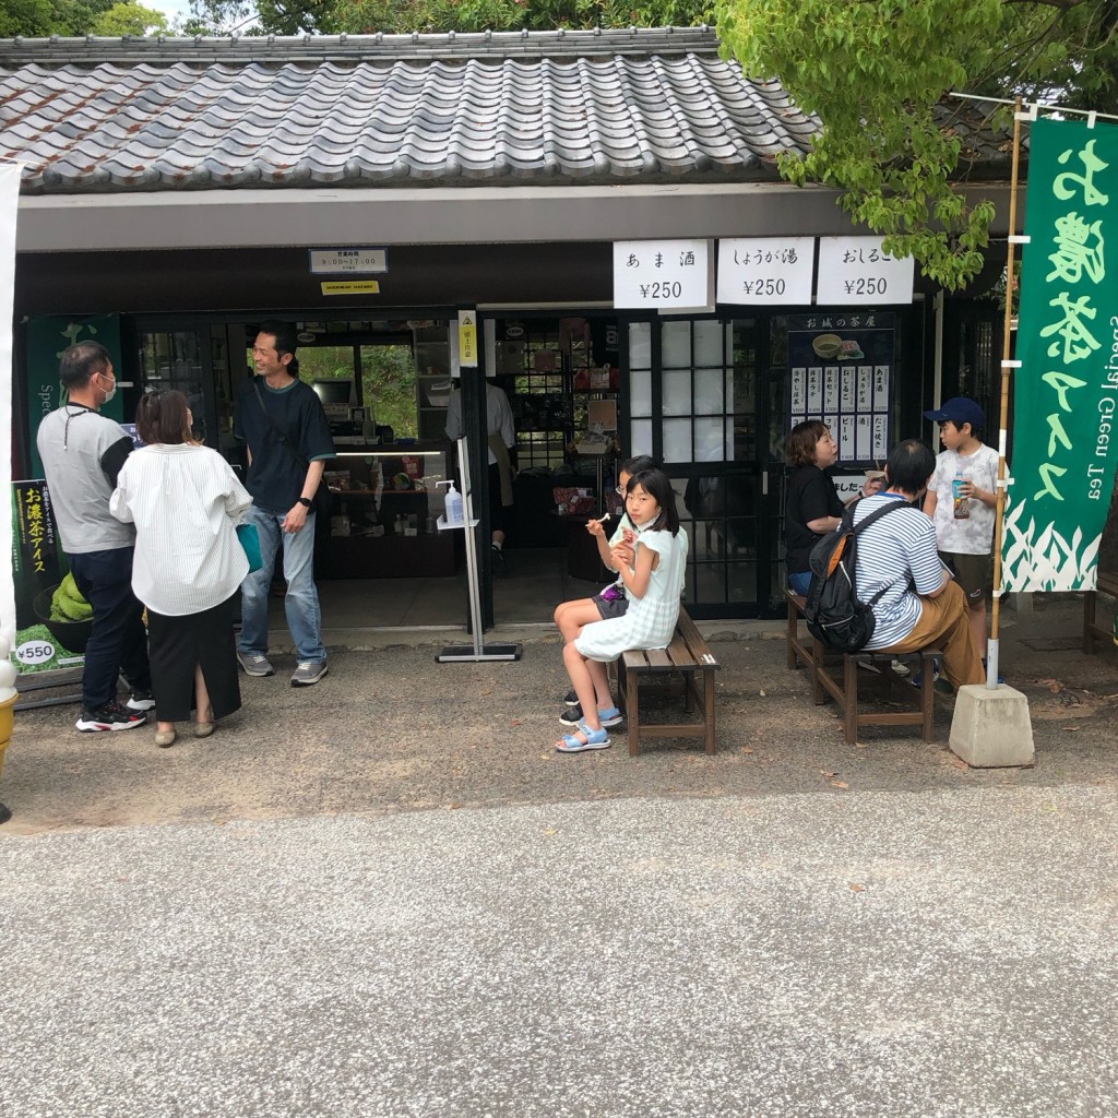
<path id="1" fill-rule="evenodd" d="M 260 534 L 264 566 L 249 571 L 240 584 L 240 651 L 268 654 L 268 591 L 282 546 L 283 577 L 287 580 L 284 610 L 295 655 L 301 661 L 322 663 L 326 650 L 322 644 L 322 614 L 314 585 L 314 513 L 309 513 L 302 531 L 294 533 L 283 531 L 285 515 L 266 512 L 255 504 L 248 510 L 248 519 Z"/>

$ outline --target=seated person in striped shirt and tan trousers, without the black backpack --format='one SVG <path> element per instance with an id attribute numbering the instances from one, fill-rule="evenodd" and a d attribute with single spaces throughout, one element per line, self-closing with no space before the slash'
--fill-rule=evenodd
<path id="1" fill-rule="evenodd" d="M 944 566 L 932 522 L 916 506 L 936 472 L 936 456 L 919 439 L 901 443 L 885 463 L 888 487 L 859 501 L 855 525 L 889 501 L 909 508 L 882 517 L 858 537 L 854 577 L 858 596 L 873 607 L 874 629 L 866 651 L 944 651 L 944 675 L 953 688 L 985 683 L 982 657 L 967 613 L 967 599 Z"/>

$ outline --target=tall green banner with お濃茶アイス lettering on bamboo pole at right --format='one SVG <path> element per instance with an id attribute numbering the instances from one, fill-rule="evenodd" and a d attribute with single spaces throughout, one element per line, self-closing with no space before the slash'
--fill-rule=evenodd
<path id="1" fill-rule="evenodd" d="M 1025 231 L 1004 586 L 1093 590 L 1118 461 L 1118 126 L 1032 125 Z"/>

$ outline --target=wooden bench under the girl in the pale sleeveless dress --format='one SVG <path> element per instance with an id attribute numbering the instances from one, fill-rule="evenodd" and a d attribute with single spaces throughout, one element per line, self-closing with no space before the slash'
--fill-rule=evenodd
<path id="1" fill-rule="evenodd" d="M 628 720 L 629 756 L 636 757 L 641 752 L 642 738 L 703 738 L 707 752 L 713 754 L 714 672 L 720 666 L 682 606 L 675 623 L 675 635 L 666 648 L 623 653 L 617 661 L 617 694 Z M 698 703 L 702 721 L 671 724 L 642 722 L 638 690 L 642 678 L 652 676 L 660 683 L 667 683 L 672 675 L 679 675 L 682 682 L 683 709 L 690 714 Z"/>

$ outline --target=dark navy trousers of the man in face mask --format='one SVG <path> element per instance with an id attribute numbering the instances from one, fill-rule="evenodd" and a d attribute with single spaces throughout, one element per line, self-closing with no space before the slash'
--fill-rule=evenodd
<path id="1" fill-rule="evenodd" d="M 133 548 L 69 557 L 74 584 L 93 606 L 93 628 L 82 671 L 82 707 L 89 712 L 116 698 L 121 672 L 136 691 L 151 690 L 143 606 L 132 593 L 133 557 Z"/>

